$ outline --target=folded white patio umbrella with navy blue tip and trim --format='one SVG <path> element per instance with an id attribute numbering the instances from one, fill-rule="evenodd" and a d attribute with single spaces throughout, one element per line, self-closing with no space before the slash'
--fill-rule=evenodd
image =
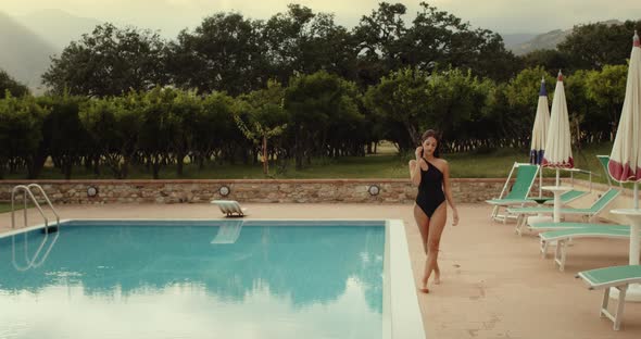
<path id="1" fill-rule="evenodd" d="M 545 152 L 545 141 L 548 138 L 548 128 L 550 126 L 550 108 L 548 106 L 548 90 L 545 89 L 545 77 L 541 79 L 539 90 L 539 103 L 537 104 L 537 115 L 532 127 L 532 141 L 530 143 L 530 163 L 540 165 L 543 162 Z M 541 186 L 543 185 L 543 171 L 539 171 L 539 197 L 541 197 Z"/>

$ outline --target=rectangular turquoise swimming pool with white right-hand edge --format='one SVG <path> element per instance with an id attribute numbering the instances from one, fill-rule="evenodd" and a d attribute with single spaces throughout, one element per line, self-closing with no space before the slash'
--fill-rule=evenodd
<path id="1" fill-rule="evenodd" d="M 400 221 L 65 221 L 0 236 L 0 338 L 424 338 Z"/>

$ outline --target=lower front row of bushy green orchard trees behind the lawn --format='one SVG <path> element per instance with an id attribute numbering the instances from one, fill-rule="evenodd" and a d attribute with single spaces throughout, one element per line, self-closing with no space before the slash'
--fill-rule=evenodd
<path id="1" fill-rule="evenodd" d="M 576 146 L 612 138 L 625 96 L 627 67 L 578 71 L 565 78 Z M 66 178 L 74 165 L 115 178 L 130 164 L 159 171 L 184 162 L 246 163 L 364 155 L 379 140 L 401 152 L 419 143 L 426 128 L 442 133 L 444 151 L 529 146 L 539 81 L 554 92 L 555 77 L 527 68 L 507 83 L 460 68 L 403 68 L 362 93 L 357 85 L 320 71 L 299 75 L 285 87 L 231 97 L 202 96 L 172 87 L 124 96 L 30 96 L 0 100 L 0 175 L 26 170 L 38 177 L 51 156 Z"/>

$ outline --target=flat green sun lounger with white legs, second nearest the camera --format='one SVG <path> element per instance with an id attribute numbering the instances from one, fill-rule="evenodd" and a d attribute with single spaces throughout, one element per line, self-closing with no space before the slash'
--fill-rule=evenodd
<path id="1" fill-rule="evenodd" d="M 611 238 L 611 239 L 629 239 L 630 226 L 587 226 L 580 228 L 569 228 L 560 230 L 549 230 L 539 234 L 541 239 L 541 254 L 548 255 L 548 246 L 551 241 L 556 241 L 556 251 L 554 251 L 554 263 L 558 264 L 558 269 L 565 269 L 567 259 L 567 242 L 578 238 Z"/>

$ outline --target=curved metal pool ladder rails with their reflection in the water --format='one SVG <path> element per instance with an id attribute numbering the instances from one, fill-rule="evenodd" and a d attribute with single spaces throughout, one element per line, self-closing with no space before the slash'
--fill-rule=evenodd
<path id="1" fill-rule="evenodd" d="M 53 240 L 51 240 L 49 242 L 49 247 L 47 248 L 47 250 L 45 251 L 45 253 L 42 255 L 40 255 L 40 252 L 42 252 L 42 249 L 45 248 L 45 244 L 48 242 L 48 239 L 49 239 L 49 233 L 50 233 L 50 230 L 49 230 L 49 219 L 45 215 L 45 212 L 42 212 L 42 209 L 40 208 L 40 203 L 38 202 L 38 200 L 34 196 L 34 192 L 32 191 L 32 189 L 34 189 L 34 188 L 37 189 L 38 191 L 40 191 L 40 194 L 45 198 L 45 201 L 47 201 L 47 204 L 49 205 L 49 208 L 53 212 L 53 215 L 55 215 L 55 236 L 53 237 Z M 14 215 L 15 214 L 15 209 L 14 209 L 14 203 L 15 203 L 15 194 L 17 192 L 20 192 L 20 191 L 23 192 L 23 197 L 24 197 L 23 200 L 24 200 L 24 221 L 25 221 L 25 227 L 28 226 L 28 224 L 27 224 L 27 197 L 30 198 L 32 202 L 38 209 L 38 211 L 40 212 L 40 215 L 45 219 L 45 237 L 40 241 L 40 246 L 37 248 L 37 250 L 36 250 L 36 252 L 34 253 L 33 256 L 29 256 L 29 253 L 28 253 L 29 252 L 28 251 L 28 244 L 27 244 L 28 243 L 28 241 L 27 241 L 28 233 L 24 233 L 24 256 L 25 256 L 26 265 L 20 265 L 17 263 L 17 260 L 16 260 L 16 251 L 15 251 L 15 237 L 16 237 L 16 235 L 13 235 L 11 237 L 11 249 L 12 249 L 12 262 L 13 262 L 13 266 L 16 269 L 18 269 L 18 271 L 27 271 L 29 268 L 39 267 L 40 265 L 42 265 L 45 263 L 45 261 L 49 256 L 49 253 L 51 252 L 51 249 L 53 249 L 53 246 L 55 244 L 55 241 L 58 241 L 58 237 L 60 236 L 60 231 L 58 231 L 58 227 L 60 226 L 60 216 L 58 215 L 58 212 L 53 208 L 53 204 L 51 203 L 51 200 L 49 200 L 49 197 L 47 197 L 47 193 L 45 192 L 45 190 L 42 189 L 42 187 L 40 187 L 40 185 L 37 185 L 37 184 L 30 184 L 30 185 L 27 185 L 27 186 L 25 186 L 25 185 L 17 185 L 11 191 L 11 228 L 15 228 L 15 215 Z"/>

